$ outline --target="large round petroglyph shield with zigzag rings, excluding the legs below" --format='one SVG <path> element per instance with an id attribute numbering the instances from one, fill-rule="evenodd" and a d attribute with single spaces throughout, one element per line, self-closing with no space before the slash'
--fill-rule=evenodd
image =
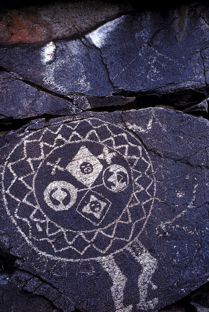
<path id="1" fill-rule="evenodd" d="M 18 231 L 37 252 L 65 261 L 126 248 L 145 227 L 156 185 L 134 134 L 96 118 L 25 134 L 2 177 Z"/>

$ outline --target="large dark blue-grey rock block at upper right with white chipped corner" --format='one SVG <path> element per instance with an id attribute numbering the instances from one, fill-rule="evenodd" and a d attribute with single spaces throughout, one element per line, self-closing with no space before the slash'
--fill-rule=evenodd
<path id="1" fill-rule="evenodd" d="M 205 42 L 208 32 L 208 25 L 201 27 L 202 23 L 195 10 L 182 6 L 166 13 L 127 14 L 115 20 L 115 25 L 110 22 L 86 37 L 102 51 L 110 79 L 120 90 L 199 92 L 205 86 L 206 66 L 202 64 L 201 37 Z"/>

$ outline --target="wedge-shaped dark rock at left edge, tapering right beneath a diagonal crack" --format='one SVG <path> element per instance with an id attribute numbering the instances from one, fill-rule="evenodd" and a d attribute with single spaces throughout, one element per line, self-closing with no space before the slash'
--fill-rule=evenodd
<path id="1" fill-rule="evenodd" d="M 73 115 L 81 110 L 58 96 L 37 90 L 0 71 L 0 118 L 26 118 L 42 114 Z"/>

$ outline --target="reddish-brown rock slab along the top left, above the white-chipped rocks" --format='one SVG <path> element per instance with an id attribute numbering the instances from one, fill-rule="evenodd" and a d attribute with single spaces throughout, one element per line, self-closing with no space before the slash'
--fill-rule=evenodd
<path id="1" fill-rule="evenodd" d="M 0 13 L 0 42 L 34 43 L 67 38 L 131 9 L 131 4 L 125 1 L 98 0 L 55 2 L 19 9 L 5 6 Z"/>

